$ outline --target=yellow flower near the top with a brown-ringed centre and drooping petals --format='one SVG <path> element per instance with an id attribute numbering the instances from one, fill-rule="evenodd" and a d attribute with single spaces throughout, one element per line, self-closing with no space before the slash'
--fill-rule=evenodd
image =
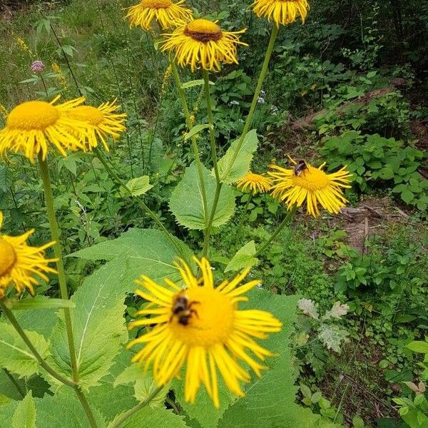
<path id="1" fill-rule="evenodd" d="M 239 40 L 245 31 L 223 31 L 217 22 L 195 19 L 172 34 L 164 34 L 162 51 L 175 51 L 180 66 L 190 65 L 192 72 L 200 67 L 220 71 L 221 63 L 238 63 L 236 46 L 248 46 Z"/>

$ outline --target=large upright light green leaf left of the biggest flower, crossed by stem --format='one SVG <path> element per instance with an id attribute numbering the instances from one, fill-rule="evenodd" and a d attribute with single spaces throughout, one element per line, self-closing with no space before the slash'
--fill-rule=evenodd
<path id="1" fill-rule="evenodd" d="M 99 384 L 108 374 L 121 344 L 127 340 L 124 326 L 123 300 L 129 287 L 123 284 L 127 263 L 121 267 L 106 265 L 91 276 L 74 293 L 71 300 L 76 308 L 71 310 L 73 337 L 76 346 L 78 377 L 81 387 L 88 389 Z M 63 312 L 51 337 L 51 359 L 56 369 L 71 377 Z"/>

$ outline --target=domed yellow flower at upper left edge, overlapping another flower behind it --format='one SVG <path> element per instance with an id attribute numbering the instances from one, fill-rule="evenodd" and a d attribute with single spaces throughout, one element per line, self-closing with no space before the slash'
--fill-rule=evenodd
<path id="1" fill-rule="evenodd" d="M 0 130 L 0 156 L 21 152 L 33 163 L 38 153 L 46 159 L 50 146 L 56 147 L 62 156 L 67 156 L 67 150 L 83 149 L 79 136 L 86 133 L 86 124 L 67 113 L 80 106 L 85 98 L 55 106 L 58 98 L 51 103 L 26 101 L 10 112 L 6 127 Z"/>

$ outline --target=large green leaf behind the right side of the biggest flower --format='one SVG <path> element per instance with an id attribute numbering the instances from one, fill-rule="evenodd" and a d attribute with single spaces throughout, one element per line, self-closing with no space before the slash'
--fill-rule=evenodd
<path id="1" fill-rule="evenodd" d="M 246 387 L 245 397 L 238 399 L 225 411 L 219 427 L 302 427 L 290 416 L 290 407 L 297 391 L 289 347 L 296 303 L 296 296 L 272 295 L 264 290 L 250 293 L 250 301 L 246 304 L 248 307 L 268 310 L 283 324 L 281 332 L 263 341 L 263 346 L 275 352 L 277 357 L 266 360 L 265 364 L 270 370 Z"/>

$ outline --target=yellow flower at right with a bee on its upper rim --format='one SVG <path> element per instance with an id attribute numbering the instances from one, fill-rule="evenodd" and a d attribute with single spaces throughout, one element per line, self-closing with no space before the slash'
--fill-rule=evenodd
<path id="1" fill-rule="evenodd" d="M 270 165 L 272 171 L 272 196 L 284 201 L 287 209 L 294 205 L 300 207 L 306 201 L 307 214 L 317 217 L 320 215 L 318 203 L 329 213 L 337 214 L 345 206 L 347 200 L 342 195 L 343 188 L 350 188 L 352 174 L 341 168 L 336 173 L 327 174 L 322 168 L 315 168 L 305 161 L 295 163 L 295 168 L 285 169 Z"/>

